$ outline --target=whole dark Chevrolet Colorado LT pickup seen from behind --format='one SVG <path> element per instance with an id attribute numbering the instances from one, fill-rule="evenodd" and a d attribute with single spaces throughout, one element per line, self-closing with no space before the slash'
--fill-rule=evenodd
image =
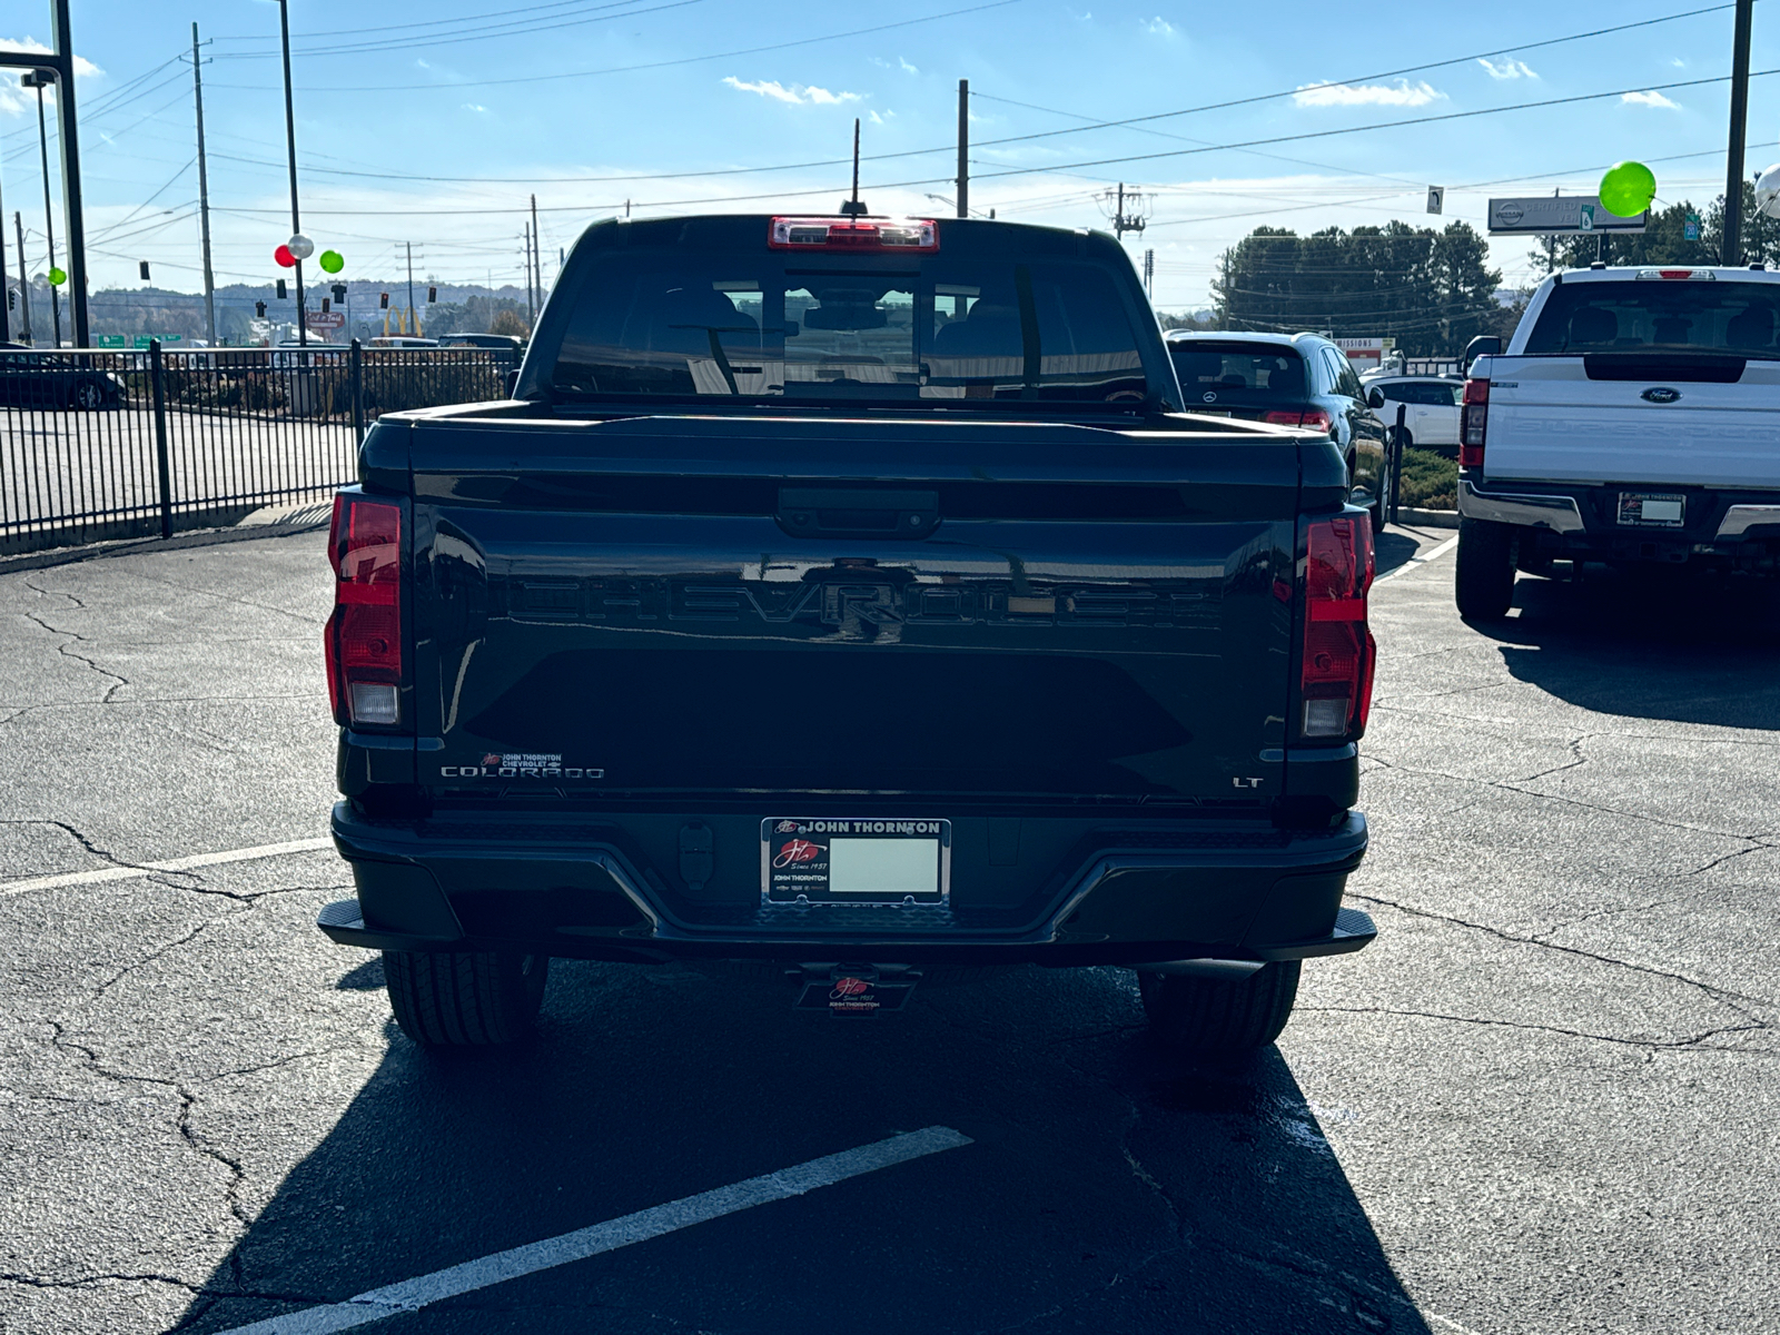
<path id="1" fill-rule="evenodd" d="M 1182 413 L 1111 237 L 595 224 L 511 400 L 365 436 L 331 561 L 319 926 L 420 1043 L 523 1038 L 555 956 L 844 1016 L 1123 965 L 1246 1048 L 1374 936 L 1369 518 L 1328 436 Z"/>

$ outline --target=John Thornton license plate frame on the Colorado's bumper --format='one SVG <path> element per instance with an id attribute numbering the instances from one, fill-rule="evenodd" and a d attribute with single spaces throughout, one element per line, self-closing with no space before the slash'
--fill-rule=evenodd
<path id="1" fill-rule="evenodd" d="M 796 817 L 760 822 L 762 904 L 951 904 L 952 822 Z"/>

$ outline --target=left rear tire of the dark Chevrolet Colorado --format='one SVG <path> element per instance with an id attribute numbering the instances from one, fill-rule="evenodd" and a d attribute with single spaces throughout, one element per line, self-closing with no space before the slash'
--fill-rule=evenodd
<path id="1" fill-rule="evenodd" d="M 550 956 L 384 951 L 383 979 L 402 1032 L 422 1047 L 504 1047 L 530 1036 Z"/>

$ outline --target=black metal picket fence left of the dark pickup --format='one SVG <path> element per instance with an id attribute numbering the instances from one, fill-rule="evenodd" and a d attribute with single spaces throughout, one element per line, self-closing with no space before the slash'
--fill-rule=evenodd
<path id="1" fill-rule="evenodd" d="M 173 536 L 324 495 L 381 413 L 506 397 L 504 349 L 0 347 L 0 552 Z"/>

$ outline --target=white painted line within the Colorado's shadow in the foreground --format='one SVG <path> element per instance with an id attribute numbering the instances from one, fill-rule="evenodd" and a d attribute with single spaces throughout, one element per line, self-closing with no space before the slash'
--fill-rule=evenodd
<path id="1" fill-rule="evenodd" d="M 602 1225 L 578 1228 L 573 1234 L 546 1237 L 541 1242 L 527 1242 L 511 1251 L 497 1251 L 481 1260 L 466 1260 L 461 1266 L 433 1271 L 415 1280 L 372 1289 L 344 1303 L 312 1307 L 285 1317 L 255 1321 L 251 1326 L 235 1326 L 222 1331 L 222 1335 L 326 1335 L 335 1330 L 368 1326 L 372 1321 L 395 1317 L 402 1312 L 418 1312 L 443 1298 L 468 1294 L 486 1289 L 491 1283 L 516 1280 L 522 1274 L 536 1274 L 538 1271 L 566 1266 L 571 1260 L 586 1260 L 602 1251 L 627 1248 L 632 1242 L 646 1242 L 651 1237 L 662 1237 L 664 1234 L 705 1223 L 707 1219 L 721 1219 L 724 1214 L 748 1210 L 755 1205 L 785 1200 L 787 1196 L 801 1196 L 817 1187 L 831 1187 L 837 1182 L 846 1182 L 849 1177 L 876 1173 L 879 1168 L 906 1164 L 910 1159 L 940 1153 L 942 1150 L 956 1150 L 961 1145 L 970 1145 L 970 1137 L 951 1127 L 911 1130 L 902 1136 L 892 1136 L 886 1141 L 878 1141 L 876 1145 L 862 1145 L 858 1150 L 842 1150 L 840 1153 L 812 1159 L 796 1168 L 781 1168 L 778 1173 L 751 1177 L 730 1187 L 717 1187 L 716 1191 L 684 1196 L 650 1210 L 637 1210 L 619 1219 L 607 1219 Z"/>

